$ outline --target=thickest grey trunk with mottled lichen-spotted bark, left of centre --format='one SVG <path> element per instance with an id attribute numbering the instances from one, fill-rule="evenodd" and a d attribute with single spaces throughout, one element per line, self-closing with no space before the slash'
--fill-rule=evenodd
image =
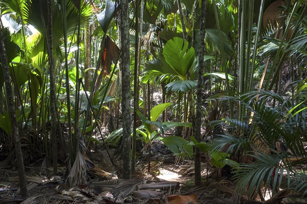
<path id="1" fill-rule="evenodd" d="M 130 130 L 130 52 L 129 52 L 129 2 L 120 2 L 122 42 L 122 120 L 123 120 L 123 178 L 131 177 L 131 130 Z"/>

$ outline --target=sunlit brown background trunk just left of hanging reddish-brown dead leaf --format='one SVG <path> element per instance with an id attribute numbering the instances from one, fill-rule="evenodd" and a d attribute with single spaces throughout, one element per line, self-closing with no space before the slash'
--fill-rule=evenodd
<path id="1" fill-rule="evenodd" d="M 85 25 L 85 35 L 84 35 L 84 45 L 85 45 L 85 61 L 84 61 L 84 69 L 88 69 L 91 67 L 91 25 L 90 21 Z M 91 72 L 88 70 L 84 73 L 84 88 L 85 91 L 90 90 L 91 84 Z"/>

